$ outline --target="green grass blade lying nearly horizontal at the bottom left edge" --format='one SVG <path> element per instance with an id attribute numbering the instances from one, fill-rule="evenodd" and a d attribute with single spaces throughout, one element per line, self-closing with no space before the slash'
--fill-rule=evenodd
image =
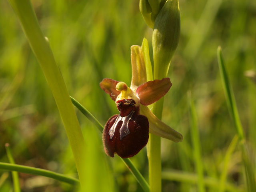
<path id="1" fill-rule="evenodd" d="M 65 182 L 68 184 L 72 184 L 72 185 L 79 184 L 79 180 L 76 178 L 68 177 L 63 174 L 59 174 L 59 173 L 56 173 L 53 171 L 40 169 L 40 168 L 34 168 L 34 167 L 29 167 L 29 166 L 24 166 L 24 165 L 0 162 L 0 169 L 28 173 L 28 174 L 32 174 L 32 175 L 41 175 L 41 176 L 53 178 L 55 180 Z"/>

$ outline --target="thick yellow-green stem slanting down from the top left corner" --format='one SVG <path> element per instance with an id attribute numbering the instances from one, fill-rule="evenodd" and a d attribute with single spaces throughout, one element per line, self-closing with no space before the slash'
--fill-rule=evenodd
<path id="1" fill-rule="evenodd" d="M 44 76 L 52 90 L 60 116 L 62 118 L 68 140 L 70 142 L 76 168 L 82 184 L 85 181 L 84 158 L 85 146 L 82 131 L 76 117 L 74 107 L 69 98 L 68 90 L 60 70 L 54 60 L 52 50 L 47 38 L 44 37 L 38 24 L 36 14 L 29 0 L 9 0 L 14 12 L 17 14 L 22 29 L 30 43 L 30 46 L 40 63 Z"/>

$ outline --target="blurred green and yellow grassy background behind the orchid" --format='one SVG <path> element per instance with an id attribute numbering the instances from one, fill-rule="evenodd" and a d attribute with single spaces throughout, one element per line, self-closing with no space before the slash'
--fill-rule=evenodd
<path id="1" fill-rule="evenodd" d="M 176 144 L 162 139 L 162 170 L 171 169 L 181 177 L 163 178 L 162 190 L 198 191 L 193 180 L 196 168 L 188 115 L 190 90 L 198 116 L 204 175 L 210 183 L 206 190 L 214 192 L 227 148 L 236 134 L 220 80 L 218 45 L 223 49 L 250 158 L 256 166 L 256 86 L 244 76 L 246 70 L 256 69 L 256 1 L 179 2 L 181 36 L 168 73 L 173 85 L 165 97 L 163 121 L 181 132 L 184 141 Z M 140 14 L 139 0 L 32 0 L 32 4 L 70 95 L 105 124 L 118 110 L 100 89 L 100 81 L 108 77 L 130 84 L 130 46 L 140 45 L 146 37 L 152 52 L 152 29 Z M 90 184 L 102 185 L 109 191 L 141 192 L 120 158 L 104 154 L 96 127 L 80 112 L 77 115 L 88 146 L 85 166 Z M 8 162 L 6 142 L 10 143 L 17 164 L 76 176 L 50 88 L 10 4 L 1 0 L 0 162 Z M 132 161 L 147 178 L 146 149 Z M 48 178 L 21 173 L 19 176 L 24 192 L 77 191 L 74 186 Z M 245 191 L 238 147 L 228 164 L 227 182 Z M 12 191 L 11 174 L 4 170 L 0 170 L 0 191 Z"/>

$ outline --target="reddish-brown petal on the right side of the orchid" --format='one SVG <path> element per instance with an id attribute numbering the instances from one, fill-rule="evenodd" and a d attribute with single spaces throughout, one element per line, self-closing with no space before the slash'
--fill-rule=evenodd
<path id="1" fill-rule="evenodd" d="M 136 94 L 140 98 L 142 105 L 150 105 L 162 98 L 171 86 L 170 78 L 163 78 L 162 80 L 156 79 L 141 84 L 137 88 Z"/>

